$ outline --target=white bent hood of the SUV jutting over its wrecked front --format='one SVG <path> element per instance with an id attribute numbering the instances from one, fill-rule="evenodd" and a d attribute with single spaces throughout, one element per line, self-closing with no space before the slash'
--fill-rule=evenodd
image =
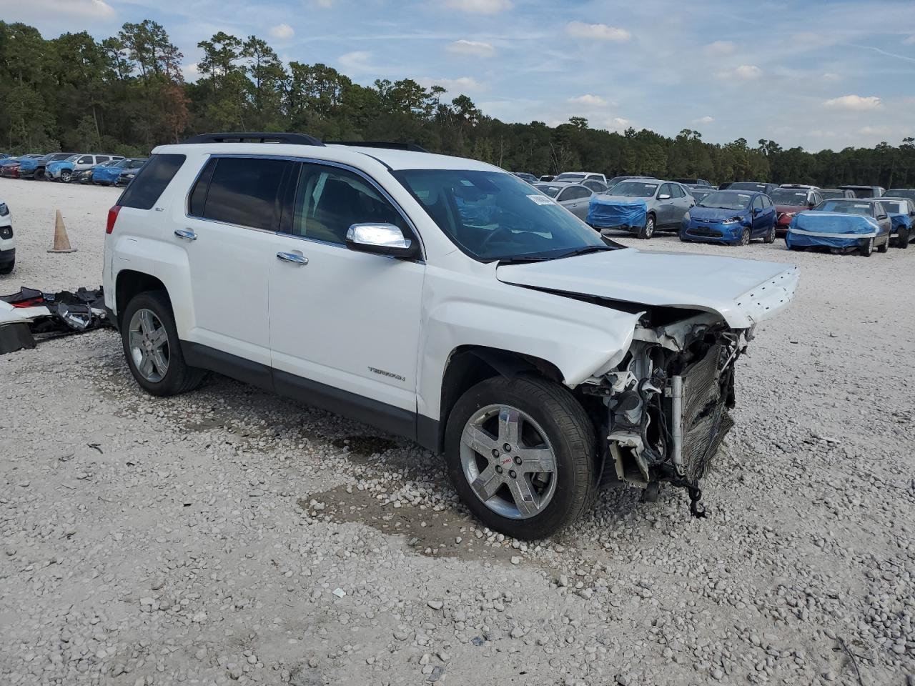
<path id="1" fill-rule="evenodd" d="M 625 248 L 541 263 L 502 264 L 496 278 L 546 291 L 715 312 L 729 327 L 748 328 L 791 302 L 798 268 Z"/>

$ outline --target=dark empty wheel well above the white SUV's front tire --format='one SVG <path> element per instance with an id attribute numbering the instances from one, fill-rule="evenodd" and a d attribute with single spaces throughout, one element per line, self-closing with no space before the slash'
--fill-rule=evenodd
<path id="1" fill-rule="evenodd" d="M 494 376 L 513 377 L 522 374 L 539 376 L 562 383 L 562 372 L 545 359 L 522 355 L 511 350 L 485 346 L 461 346 L 448 358 L 442 378 L 442 396 L 439 408 L 438 452 L 445 449 L 445 426 L 451 408 L 468 389 L 480 381 Z"/>

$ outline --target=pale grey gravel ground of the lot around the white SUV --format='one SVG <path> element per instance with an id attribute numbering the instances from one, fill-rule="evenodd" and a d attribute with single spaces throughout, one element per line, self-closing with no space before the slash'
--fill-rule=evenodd
<path id="1" fill-rule="evenodd" d="M 110 188 L 0 181 L 0 292 L 101 280 Z M 48 254 L 59 208 L 79 252 Z M 915 250 L 798 263 L 705 480 L 605 492 L 539 544 L 441 459 L 213 376 L 158 400 L 111 331 L 0 357 L 0 683 L 915 681 Z"/>

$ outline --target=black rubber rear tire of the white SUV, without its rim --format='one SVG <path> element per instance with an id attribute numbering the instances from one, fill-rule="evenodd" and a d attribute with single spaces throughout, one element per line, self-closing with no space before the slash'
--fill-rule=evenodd
<path id="1" fill-rule="evenodd" d="M 130 353 L 128 343 L 128 325 L 139 309 L 151 310 L 162 325 L 165 327 L 168 336 L 168 370 L 161 381 L 148 381 L 139 370 Z M 193 391 L 203 381 L 206 374 L 205 370 L 188 366 L 184 361 L 184 354 L 181 352 L 181 343 L 178 339 L 178 329 L 175 327 L 175 316 L 172 314 L 171 304 L 168 302 L 168 296 L 165 291 L 147 291 L 135 295 L 133 299 L 124 308 L 121 316 L 121 341 L 124 346 L 124 358 L 127 359 L 127 366 L 131 374 L 140 386 L 151 395 L 168 396 L 178 395 Z"/>

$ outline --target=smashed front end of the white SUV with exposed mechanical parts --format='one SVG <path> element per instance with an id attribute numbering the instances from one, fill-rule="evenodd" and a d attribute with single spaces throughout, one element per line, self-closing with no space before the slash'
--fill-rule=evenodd
<path id="1" fill-rule="evenodd" d="M 605 408 L 601 481 L 644 488 L 648 500 L 669 482 L 687 489 L 691 512 L 703 517 L 699 481 L 734 425 L 734 367 L 752 327 L 708 313 L 659 326 L 656 315 L 640 318 L 626 357 L 585 389 Z"/>

